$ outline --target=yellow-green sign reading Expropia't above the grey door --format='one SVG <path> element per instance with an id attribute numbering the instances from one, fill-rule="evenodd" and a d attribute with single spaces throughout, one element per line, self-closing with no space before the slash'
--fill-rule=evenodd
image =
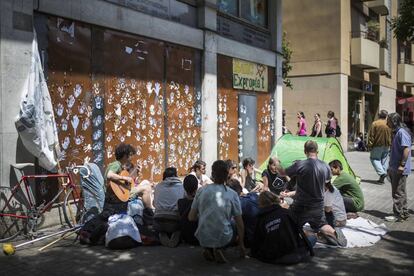
<path id="1" fill-rule="evenodd" d="M 233 88 L 268 92 L 267 66 L 233 58 Z"/>

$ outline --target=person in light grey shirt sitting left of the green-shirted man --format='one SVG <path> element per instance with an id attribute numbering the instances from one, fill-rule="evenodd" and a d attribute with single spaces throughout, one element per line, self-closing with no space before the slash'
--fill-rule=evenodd
<path id="1" fill-rule="evenodd" d="M 325 183 L 325 216 L 329 225 L 332 227 L 342 227 L 346 225 L 346 211 L 344 199 L 339 190 L 331 182 Z"/>

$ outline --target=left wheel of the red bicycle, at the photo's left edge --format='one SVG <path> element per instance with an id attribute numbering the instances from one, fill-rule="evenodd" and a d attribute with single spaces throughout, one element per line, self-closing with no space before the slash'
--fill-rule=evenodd
<path id="1" fill-rule="evenodd" d="M 0 242 L 12 240 L 26 230 L 27 218 L 15 217 L 26 215 L 23 205 L 16 208 L 9 204 L 0 210 Z"/>

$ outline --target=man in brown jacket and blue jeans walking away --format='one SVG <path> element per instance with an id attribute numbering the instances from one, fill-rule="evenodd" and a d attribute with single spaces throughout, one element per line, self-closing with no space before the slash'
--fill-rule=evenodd
<path id="1" fill-rule="evenodd" d="M 388 112 L 381 110 L 379 119 L 374 121 L 368 132 L 368 149 L 371 151 L 372 166 L 380 178 L 378 183 L 384 184 L 388 169 L 388 154 L 391 145 L 391 129 L 387 126 Z"/>

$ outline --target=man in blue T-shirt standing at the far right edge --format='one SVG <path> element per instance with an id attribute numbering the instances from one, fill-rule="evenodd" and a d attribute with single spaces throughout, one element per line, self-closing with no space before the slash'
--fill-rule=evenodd
<path id="1" fill-rule="evenodd" d="M 388 175 L 391 179 L 394 217 L 386 217 L 389 221 L 404 221 L 408 218 L 407 177 L 411 172 L 411 132 L 402 123 L 400 115 L 391 113 L 387 125 L 392 129 L 390 166 Z"/>

